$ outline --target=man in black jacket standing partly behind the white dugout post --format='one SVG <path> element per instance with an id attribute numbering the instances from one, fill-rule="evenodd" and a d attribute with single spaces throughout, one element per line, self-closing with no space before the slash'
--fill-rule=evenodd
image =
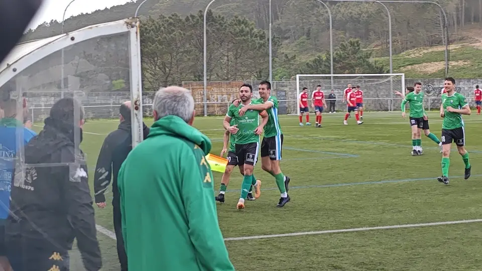
<path id="1" fill-rule="evenodd" d="M 107 135 L 100 149 L 97 166 L 94 174 L 95 203 L 101 209 L 105 204 L 105 191 L 108 189 L 112 178 L 112 207 L 114 231 L 117 238 L 117 256 L 121 263 L 121 271 L 127 271 L 127 255 L 122 238 L 121 202 L 117 188 L 117 175 L 121 165 L 132 150 L 131 129 L 131 101 L 126 101 L 119 108 L 121 123 L 115 131 Z M 149 127 L 143 123 L 144 139 L 149 134 Z"/>

